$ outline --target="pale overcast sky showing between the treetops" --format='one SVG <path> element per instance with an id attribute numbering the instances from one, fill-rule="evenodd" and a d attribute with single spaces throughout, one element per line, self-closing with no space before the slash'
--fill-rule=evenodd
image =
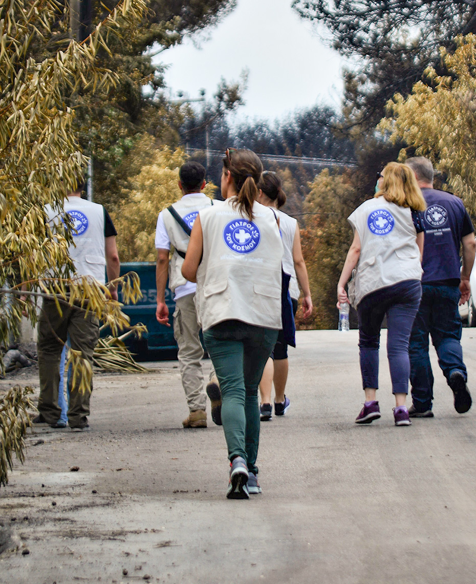
<path id="1" fill-rule="evenodd" d="M 344 60 L 290 8 L 291 0 L 238 0 L 208 39 L 191 39 L 157 57 L 168 64 L 171 97 L 211 98 L 221 77 L 237 81 L 248 69 L 246 105 L 237 117 L 275 119 L 316 103 L 340 108 Z"/>

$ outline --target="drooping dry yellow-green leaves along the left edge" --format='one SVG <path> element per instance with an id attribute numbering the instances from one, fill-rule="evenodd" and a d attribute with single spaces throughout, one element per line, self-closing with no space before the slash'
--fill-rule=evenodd
<path id="1" fill-rule="evenodd" d="M 0 345 L 3 347 L 8 347 L 12 337 L 17 336 L 22 310 L 27 310 L 33 323 L 36 321 L 33 304 L 20 300 L 22 287 L 28 288 L 24 294 L 30 298 L 54 298 L 60 307 L 78 299 L 86 300 L 86 310 L 112 324 L 113 331 L 128 324 L 121 304 L 110 299 L 106 287 L 74 277 L 68 257 L 71 232 L 52 231 L 44 206 L 50 203 L 61 210 L 64 197 L 75 189 L 87 163 L 72 131 L 75 94 L 86 87 L 94 91 L 114 85 L 115 74 L 96 67 L 96 56 L 101 50 L 108 51 L 110 34 L 129 37 L 136 34 L 146 4 L 144 0 L 120 0 L 83 43 L 67 40 L 55 53 L 45 51 L 47 56 L 34 60 L 30 57 L 30 47 L 35 43 L 46 45 L 51 38 L 51 27 L 68 22 L 67 10 L 68 3 L 55 0 L 0 2 Z M 118 283 L 122 284 L 125 301 L 134 301 L 140 294 L 137 277 L 125 277 Z M 78 371 L 85 373 L 85 389 L 89 387 L 91 372 L 76 357 L 73 355 L 72 360 L 76 361 Z M 5 426 L 6 416 L 16 415 L 5 412 L 0 420 L 0 460 L 10 460 L 12 444 L 17 445 L 16 455 L 22 460 L 20 438 L 25 424 Z M 7 479 L 6 466 L 2 464 L 0 484 Z"/>

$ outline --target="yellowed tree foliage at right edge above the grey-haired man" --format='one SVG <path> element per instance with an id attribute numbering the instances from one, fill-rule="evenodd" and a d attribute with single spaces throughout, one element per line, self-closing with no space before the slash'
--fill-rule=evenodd
<path id="1" fill-rule="evenodd" d="M 392 117 L 383 119 L 380 128 L 394 143 L 403 140 L 446 172 L 452 190 L 476 215 L 476 36 L 459 37 L 454 53 L 445 48 L 440 53 L 449 75 L 426 69 L 432 86 L 419 81 L 408 98 L 394 96 L 387 104 Z M 400 159 L 406 156 L 401 151 Z"/>

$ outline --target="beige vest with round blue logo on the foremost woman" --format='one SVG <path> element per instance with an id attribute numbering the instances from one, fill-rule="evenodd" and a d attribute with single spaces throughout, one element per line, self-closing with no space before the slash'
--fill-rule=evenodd
<path id="1" fill-rule="evenodd" d="M 275 212 L 255 201 L 250 221 L 233 208 L 235 200 L 200 211 L 198 322 L 204 331 L 227 320 L 279 330 L 283 246 Z"/>

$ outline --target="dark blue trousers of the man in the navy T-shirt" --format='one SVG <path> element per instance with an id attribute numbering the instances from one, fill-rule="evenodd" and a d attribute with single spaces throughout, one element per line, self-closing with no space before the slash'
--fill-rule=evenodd
<path id="1" fill-rule="evenodd" d="M 460 296 L 457 286 L 423 284 L 422 300 L 410 337 L 411 394 L 418 412 L 432 408 L 433 372 L 428 354 L 429 334 L 446 380 L 449 381 L 453 371 L 461 371 L 467 379 L 460 343 Z"/>

